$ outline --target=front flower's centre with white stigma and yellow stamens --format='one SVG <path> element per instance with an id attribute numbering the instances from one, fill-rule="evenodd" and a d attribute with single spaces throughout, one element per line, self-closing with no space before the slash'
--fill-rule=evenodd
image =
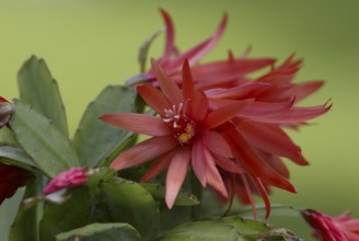
<path id="1" fill-rule="evenodd" d="M 183 103 L 178 107 L 173 105 L 172 108 L 164 110 L 164 114 L 163 122 L 172 126 L 178 142 L 182 146 L 188 144 L 196 134 L 195 123 L 183 113 Z"/>

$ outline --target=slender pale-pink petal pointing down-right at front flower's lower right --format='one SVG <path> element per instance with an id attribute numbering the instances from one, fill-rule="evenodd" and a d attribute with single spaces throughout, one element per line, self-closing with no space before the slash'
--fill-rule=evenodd
<path id="1" fill-rule="evenodd" d="M 213 187 L 217 192 L 219 192 L 223 197 L 228 198 L 227 188 L 224 186 L 223 180 L 219 174 L 219 171 L 216 167 L 212 154 L 204 148 L 205 151 L 205 161 L 206 161 L 206 177 L 208 184 Z"/>

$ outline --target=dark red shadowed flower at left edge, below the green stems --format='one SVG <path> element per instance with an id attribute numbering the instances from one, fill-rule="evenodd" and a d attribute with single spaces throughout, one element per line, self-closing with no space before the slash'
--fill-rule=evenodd
<path id="1" fill-rule="evenodd" d="M 3 163 L 0 163 L 0 205 L 5 198 L 12 197 L 30 179 L 28 172 Z"/>

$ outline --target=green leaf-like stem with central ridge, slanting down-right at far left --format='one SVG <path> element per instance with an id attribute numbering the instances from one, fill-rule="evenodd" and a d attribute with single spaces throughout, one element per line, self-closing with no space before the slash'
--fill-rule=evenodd
<path id="1" fill-rule="evenodd" d="M 18 100 L 14 107 L 10 125 L 16 140 L 39 170 L 54 177 L 71 167 L 79 167 L 70 140 L 51 122 Z"/>

